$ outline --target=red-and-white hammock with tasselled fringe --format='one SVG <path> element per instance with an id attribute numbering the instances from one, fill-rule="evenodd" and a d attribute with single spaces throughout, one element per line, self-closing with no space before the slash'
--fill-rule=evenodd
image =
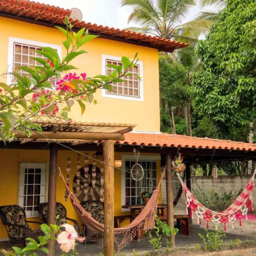
<path id="1" fill-rule="evenodd" d="M 209 222 L 215 224 L 215 229 L 217 229 L 217 224 L 224 223 L 224 230 L 226 231 L 226 223 L 232 222 L 232 227 L 234 229 L 234 222 L 236 220 L 240 221 L 240 226 L 242 226 L 241 218 L 245 216 L 247 220 L 247 212 L 252 212 L 254 210 L 252 201 L 252 191 L 254 187 L 254 176 L 256 174 L 256 168 L 253 176 L 247 183 L 243 192 L 238 196 L 238 198 L 223 212 L 215 212 L 204 207 L 195 196 L 189 191 L 187 186 L 184 184 L 179 174 L 177 177 L 180 180 L 181 186 L 185 191 L 185 203 L 186 209 L 185 213 L 188 214 L 188 208 L 190 208 L 190 217 L 193 219 L 193 213 L 197 215 L 197 223 L 201 225 L 201 220 L 207 221 L 207 228 L 209 228 Z"/>

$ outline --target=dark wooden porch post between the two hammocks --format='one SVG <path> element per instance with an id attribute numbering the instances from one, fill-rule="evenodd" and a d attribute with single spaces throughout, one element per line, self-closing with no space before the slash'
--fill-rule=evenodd
<path id="1" fill-rule="evenodd" d="M 167 220 L 168 225 L 174 228 L 173 218 L 173 191 L 172 191 L 172 155 L 167 152 L 165 155 L 166 164 L 166 197 L 167 197 Z M 175 246 L 175 235 L 170 237 L 171 246 Z"/>

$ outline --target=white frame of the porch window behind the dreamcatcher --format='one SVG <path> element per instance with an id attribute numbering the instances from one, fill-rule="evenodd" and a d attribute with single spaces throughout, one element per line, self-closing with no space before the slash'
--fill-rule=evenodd
<path id="1" fill-rule="evenodd" d="M 129 212 L 130 209 L 123 209 L 122 205 L 125 205 L 125 161 L 135 161 L 137 158 L 135 158 L 134 155 L 122 155 L 121 161 L 123 169 L 121 171 L 121 211 L 122 212 Z M 161 156 L 139 156 L 138 161 L 158 161 L 161 160 Z M 157 163 L 156 163 L 156 177 L 157 177 Z"/>

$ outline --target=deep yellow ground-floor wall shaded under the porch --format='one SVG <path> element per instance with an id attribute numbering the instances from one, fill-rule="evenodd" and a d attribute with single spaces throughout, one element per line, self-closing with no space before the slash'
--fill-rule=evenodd
<path id="1" fill-rule="evenodd" d="M 85 153 L 85 152 L 83 152 Z M 94 152 L 89 152 L 92 156 Z M 122 154 L 129 153 L 115 153 L 115 160 L 121 160 Z M 133 153 L 131 153 L 133 155 Z M 143 154 L 141 154 L 143 155 Z M 147 154 L 153 155 L 153 154 Z M 65 176 L 67 158 L 70 157 L 71 162 L 71 181 L 75 176 L 76 165 L 77 165 L 77 154 L 73 151 L 60 150 L 58 151 L 58 165 L 63 171 Z M 84 162 L 84 156 L 80 157 L 81 165 Z M 32 162 L 32 163 L 49 163 L 49 151 L 48 150 L 14 150 L 14 149 L 1 149 L 0 150 L 0 205 L 13 205 L 18 203 L 18 182 L 19 182 L 19 164 L 21 162 Z M 91 163 L 91 162 L 89 162 Z M 98 166 L 100 167 L 100 165 Z M 157 173 L 158 179 L 160 178 L 161 168 L 160 160 L 157 161 Z M 121 171 L 117 171 L 115 174 L 115 216 L 126 215 L 127 212 L 121 211 Z M 73 206 L 71 205 L 69 199 L 67 202 L 64 200 L 65 187 L 59 175 L 57 175 L 57 202 L 62 203 L 67 209 L 67 216 L 69 218 L 76 219 L 80 222 L 79 216 L 75 212 Z M 161 202 L 161 191 L 159 193 L 159 202 Z M 29 218 L 30 220 L 38 220 L 39 218 Z M 122 222 L 122 226 L 128 224 L 129 219 Z M 38 228 L 37 224 L 31 225 L 32 228 Z M 81 227 L 80 227 L 81 228 Z M 0 239 L 7 238 L 7 233 L 5 227 L 0 223 Z"/>

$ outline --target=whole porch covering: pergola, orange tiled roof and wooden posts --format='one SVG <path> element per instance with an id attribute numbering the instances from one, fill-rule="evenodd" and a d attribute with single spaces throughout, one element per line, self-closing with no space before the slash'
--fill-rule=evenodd
<path id="1" fill-rule="evenodd" d="M 34 122 L 42 125 L 41 134 L 33 133 L 28 138 L 23 133 L 16 133 L 14 141 L 7 143 L 6 146 L 0 142 L 0 148 L 50 150 L 48 224 L 55 221 L 58 150 L 73 148 L 77 151 L 103 151 L 106 163 L 104 167 L 104 225 L 105 230 L 108 230 L 104 235 L 104 255 L 114 255 L 114 152 L 132 152 L 136 148 L 144 154 L 161 154 L 166 164 L 168 224 L 172 227 L 174 215 L 171 160 L 178 152 L 182 154 L 186 163 L 186 183 L 189 189 L 191 189 L 191 164 L 256 160 L 256 144 L 163 133 L 129 133 L 135 127 L 133 124 L 46 122 L 42 120 Z M 68 148 L 54 142 L 61 143 Z M 174 236 L 171 237 L 171 243 L 175 245 Z M 48 248 L 49 255 L 54 255 L 53 240 Z"/>

